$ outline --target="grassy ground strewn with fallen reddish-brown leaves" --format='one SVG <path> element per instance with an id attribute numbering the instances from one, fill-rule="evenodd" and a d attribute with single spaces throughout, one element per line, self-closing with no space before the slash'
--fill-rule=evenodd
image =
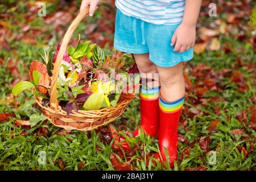
<path id="1" fill-rule="evenodd" d="M 32 60 L 43 47 L 56 48 L 77 14 L 80 1 L 36 1 L 0 5 L 0 169 L 2 170 L 171 170 L 152 154 L 158 140 L 141 134 L 127 138 L 124 152 L 115 135 L 129 135 L 140 122 L 139 100 L 122 117 L 92 132 L 64 131 L 42 119 L 28 90 L 11 89 L 28 79 Z M 204 1 L 197 26 L 195 57 L 185 65 L 187 97 L 179 125 L 179 156 L 172 170 L 255 170 L 255 31 L 253 1 Z M 113 3 L 113 1 L 112 1 Z M 114 13 L 100 7 L 75 31 L 101 47 L 113 46 Z M 27 123 L 39 121 L 34 127 Z"/>

